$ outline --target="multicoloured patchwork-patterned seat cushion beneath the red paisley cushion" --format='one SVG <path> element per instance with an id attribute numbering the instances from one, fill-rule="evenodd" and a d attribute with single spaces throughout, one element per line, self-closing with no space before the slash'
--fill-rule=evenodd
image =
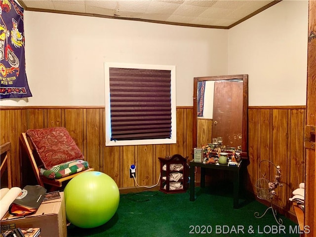
<path id="1" fill-rule="evenodd" d="M 66 163 L 55 165 L 50 169 L 40 168 L 40 174 L 49 179 L 60 179 L 71 174 L 78 173 L 87 168 L 89 168 L 89 164 L 87 161 L 84 161 L 82 159 L 75 159 Z"/>

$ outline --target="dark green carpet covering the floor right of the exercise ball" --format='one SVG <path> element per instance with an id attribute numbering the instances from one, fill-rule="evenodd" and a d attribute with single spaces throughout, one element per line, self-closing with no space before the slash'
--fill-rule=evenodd
<path id="1" fill-rule="evenodd" d="M 255 218 L 255 212 L 262 215 L 267 209 L 258 201 L 241 198 L 240 208 L 233 209 L 231 188 L 197 187 L 195 201 L 189 200 L 189 194 L 121 195 L 117 213 L 109 222 L 93 229 L 70 225 L 68 237 L 299 237 L 293 234 L 296 223 L 281 215 L 277 217 L 284 226 L 279 229 L 271 209 Z"/>

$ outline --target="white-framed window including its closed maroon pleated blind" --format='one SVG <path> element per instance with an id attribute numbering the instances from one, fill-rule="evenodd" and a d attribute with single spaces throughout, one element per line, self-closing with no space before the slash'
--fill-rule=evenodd
<path id="1" fill-rule="evenodd" d="M 176 143 L 175 66 L 105 63 L 106 146 Z"/>

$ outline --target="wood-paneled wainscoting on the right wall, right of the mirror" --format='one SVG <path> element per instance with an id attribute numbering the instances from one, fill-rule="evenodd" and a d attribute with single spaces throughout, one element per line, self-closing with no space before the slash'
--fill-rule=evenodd
<path id="1" fill-rule="evenodd" d="M 294 210 L 289 197 L 305 182 L 304 126 L 305 106 L 248 107 L 248 150 L 246 188 L 256 194 L 255 183 L 262 177 L 261 160 L 269 160 L 281 168 L 282 187 L 276 189 L 274 204 L 279 212 L 293 217 Z M 275 167 L 262 162 L 266 178 L 274 181 Z M 292 218 L 291 218 L 292 219 Z M 293 219 L 295 220 L 295 219 Z"/>

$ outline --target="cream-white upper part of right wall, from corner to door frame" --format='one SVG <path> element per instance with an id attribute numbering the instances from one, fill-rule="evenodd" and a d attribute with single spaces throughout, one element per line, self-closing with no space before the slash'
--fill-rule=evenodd
<path id="1" fill-rule="evenodd" d="M 229 30 L 229 74 L 249 75 L 249 106 L 306 105 L 307 41 L 307 0 L 283 0 Z"/>

